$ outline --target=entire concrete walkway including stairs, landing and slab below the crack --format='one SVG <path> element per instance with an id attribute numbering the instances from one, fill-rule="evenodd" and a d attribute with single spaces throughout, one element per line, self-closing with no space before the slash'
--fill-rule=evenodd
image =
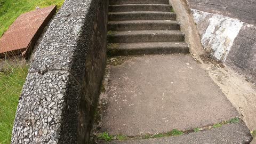
<path id="1" fill-rule="evenodd" d="M 236 109 L 187 54 L 189 47 L 168 0 L 109 2 L 108 54 L 113 58 L 108 60 L 95 135 L 107 132 L 112 139 L 126 139 L 107 143 L 252 140 Z M 180 135 L 174 137 L 173 130 Z M 99 139 L 97 143 L 106 143 Z"/>

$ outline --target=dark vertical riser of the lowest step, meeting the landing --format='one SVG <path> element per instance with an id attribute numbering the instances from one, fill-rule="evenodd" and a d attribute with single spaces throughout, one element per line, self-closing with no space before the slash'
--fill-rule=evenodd
<path id="1" fill-rule="evenodd" d="M 171 54 L 171 53 L 189 53 L 189 47 L 155 47 L 145 49 L 115 49 L 110 48 L 107 54 L 110 57 L 122 55 L 143 55 L 143 54 Z"/>

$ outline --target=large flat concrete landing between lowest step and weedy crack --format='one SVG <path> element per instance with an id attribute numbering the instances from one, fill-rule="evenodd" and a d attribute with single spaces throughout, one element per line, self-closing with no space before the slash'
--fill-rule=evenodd
<path id="1" fill-rule="evenodd" d="M 190 55 L 125 59 L 121 65 L 109 66 L 102 132 L 136 136 L 184 131 L 238 116 Z"/>

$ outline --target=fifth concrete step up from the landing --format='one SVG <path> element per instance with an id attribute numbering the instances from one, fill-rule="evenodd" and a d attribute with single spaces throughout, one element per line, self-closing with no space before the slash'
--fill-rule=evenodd
<path id="1" fill-rule="evenodd" d="M 169 4 L 122 4 L 109 5 L 109 12 L 129 12 L 129 11 L 161 11 L 171 12 L 172 6 Z"/>

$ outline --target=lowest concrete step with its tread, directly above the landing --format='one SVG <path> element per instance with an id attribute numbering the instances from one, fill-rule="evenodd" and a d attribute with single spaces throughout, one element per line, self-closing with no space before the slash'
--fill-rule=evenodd
<path id="1" fill-rule="evenodd" d="M 121 43 L 108 47 L 109 56 L 189 53 L 189 46 L 183 42 Z"/>

